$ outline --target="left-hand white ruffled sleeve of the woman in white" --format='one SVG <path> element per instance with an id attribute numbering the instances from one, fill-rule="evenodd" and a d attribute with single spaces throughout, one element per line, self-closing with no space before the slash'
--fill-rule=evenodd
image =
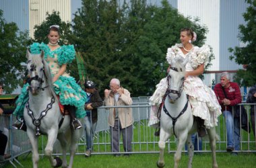
<path id="1" fill-rule="evenodd" d="M 184 60 L 184 57 L 179 54 L 181 52 L 179 47 L 181 47 L 181 44 L 175 44 L 175 46 L 167 49 L 166 60 L 169 65 L 173 65 L 177 60 Z"/>

